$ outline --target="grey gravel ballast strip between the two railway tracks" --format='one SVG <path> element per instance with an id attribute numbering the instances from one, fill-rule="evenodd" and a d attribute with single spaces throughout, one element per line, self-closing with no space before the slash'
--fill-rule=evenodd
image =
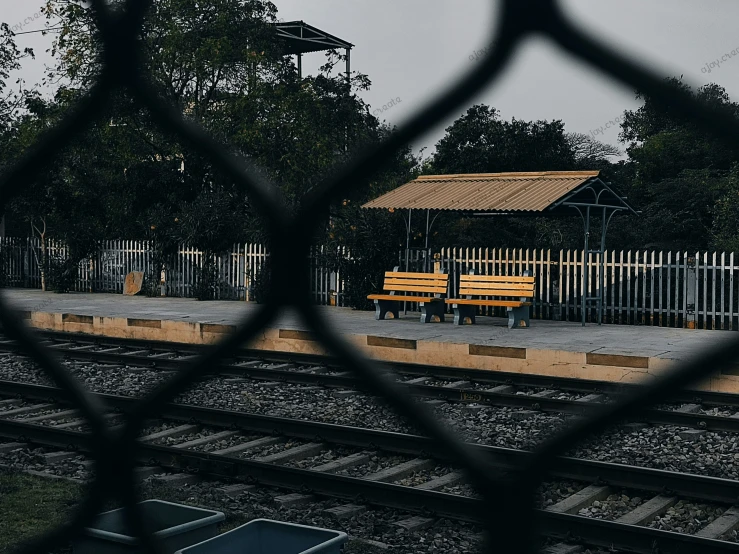
<path id="1" fill-rule="evenodd" d="M 168 373 L 156 370 L 131 371 L 115 366 L 69 362 L 78 379 L 92 390 L 109 394 L 139 396 L 163 380 Z M 20 357 L 0 359 L 0 379 L 50 384 L 34 364 Z M 536 389 L 532 389 L 536 390 Z M 394 432 L 414 429 L 380 401 L 355 394 L 335 398 L 333 389 L 319 386 L 271 383 L 233 377 L 209 377 L 185 392 L 178 401 L 209 408 L 248 411 Z M 568 424 L 562 414 L 443 403 L 434 408 L 458 435 L 478 444 L 532 449 Z M 739 434 L 707 432 L 694 440 L 680 436 L 682 429 L 655 425 L 644 429 L 616 428 L 574 449 L 569 455 L 606 462 L 639 465 L 670 471 L 737 478 Z M 241 438 L 236 438 L 243 442 Z M 199 449 L 212 451 L 231 446 L 225 439 Z"/>

